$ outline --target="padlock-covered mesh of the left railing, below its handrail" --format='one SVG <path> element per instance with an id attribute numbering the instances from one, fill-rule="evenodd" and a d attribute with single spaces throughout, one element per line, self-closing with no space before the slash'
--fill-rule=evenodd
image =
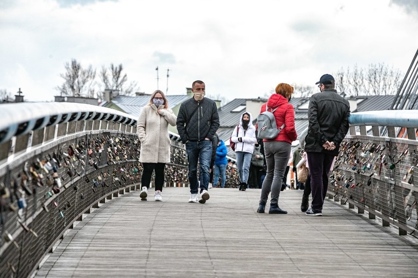
<path id="1" fill-rule="evenodd" d="M 0 177 L 0 277 L 29 276 L 91 206 L 140 183 L 136 134 L 81 134 L 31 152 Z M 165 181 L 188 183 L 182 146 L 171 147 Z"/>

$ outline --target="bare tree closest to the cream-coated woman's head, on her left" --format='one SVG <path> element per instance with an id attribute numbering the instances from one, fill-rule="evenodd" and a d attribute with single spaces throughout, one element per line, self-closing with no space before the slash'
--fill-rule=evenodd
<path id="1" fill-rule="evenodd" d="M 108 69 L 102 66 L 102 71 L 100 72 L 102 83 L 99 86 L 101 92 L 104 92 L 105 89 L 112 89 L 118 90 L 121 95 L 131 95 L 139 90 L 137 82 L 132 81 L 127 84 L 127 74 L 122 74 L 122 70 L 122 64 L 116 67 L 110 64 Z"/>

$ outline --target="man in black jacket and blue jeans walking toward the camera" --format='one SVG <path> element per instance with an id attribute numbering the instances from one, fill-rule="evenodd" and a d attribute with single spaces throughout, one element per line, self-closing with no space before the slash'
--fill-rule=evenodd
<path id="1" fill-rule="evenodd" d="M 177 131 L 186 145 L 189 162 L 189 203 L 205 204 L 209 199 L 209 166 L 212 154 L 212 139 L 219 128 L 216 103 L 205 96 L 205 83 L 196 80 L 192 84 L 193 97 L 185 100 L 177 116 Z M 200 159 L 200 160 L 199 160 Z M 200 161 L 200 198 L 197 179 L 197 162 Z"/>

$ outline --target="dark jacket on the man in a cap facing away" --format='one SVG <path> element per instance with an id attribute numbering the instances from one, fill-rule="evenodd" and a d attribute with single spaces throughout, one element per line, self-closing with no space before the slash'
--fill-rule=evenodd
<path id="1" fill-rule="evenodd" d="M 348 132 L 350 103 L 334 89 L 325 89 L 311 96 L 308 108 L 309 127 L 305 138 L 305 151 L 337 156 L 340 143 Z M 322 146 L 334 142 L 336 148 L 327 151 Z"/>

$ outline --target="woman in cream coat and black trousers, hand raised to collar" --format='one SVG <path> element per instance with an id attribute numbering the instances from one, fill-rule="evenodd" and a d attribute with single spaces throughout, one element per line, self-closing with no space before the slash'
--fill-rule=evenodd
<path id="1" fill-rule="evenodd" d="M 168 108 L 164 93 L 157 90 L 151 95 L 150 103 L 142 108 L 136 133 L 141 142 L 139 162 L 142 162 L 141 201 L 147 201 L 151 175 L 156 172 L 155 200 L 162 201 L 165 163 L 170 162 L 171 141 L 168 137 L 168 124 L 176 126 L 177 117 Z"/>

